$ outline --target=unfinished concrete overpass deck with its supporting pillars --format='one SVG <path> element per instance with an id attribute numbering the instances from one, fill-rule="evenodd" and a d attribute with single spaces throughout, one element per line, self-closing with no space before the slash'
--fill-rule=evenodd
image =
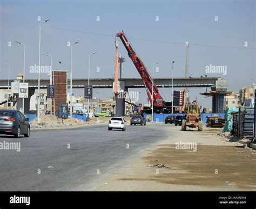
<path id="1" fill-rule="evenodd" d="M 145 88 L 144 82 L 141 78 L 124 78 L 119 79 L 120 83 L 122 83 L 122 89 L 127 91 L 129 88 Z M 209 87 L 214 90 L 217 86 L 218 82 L 224 81 L 219 77 L 208 77 L 208 78 L 173 78 L 173 88 L 195 88 L 195 87 Z M 11 82 L 14 80 L 10 80 L 11 89 Z M 38 88 L 38 80 L 37 79 L 26 79 L 25 82 L 29 83 L 29 97 L 25 99 L 25 108 L 24 113 L 29 113 L 30 109 L 30 97 L 35 93 L 35 89 Z M 113 88 L 114 78 L 103 78 L 103 79 L 90 79 L 90 85 L 93 88 Z M 72 79 L 72 88 L 84 88 L 88 83 L 87 79 Z M 172 87 L 172 78 L 154 78 L 154 83 L 156 83 L 157 87 L 159 88 L 171 88 Z M 44 89 L 50 85 L 50 79 L 41 79 L 40 80 L 40 88 Z M 70 82 L 68 80 L 68 88 L 70 88 Z M 0 89 L 8 89 L 8 79 L 0 80 Z M 212 103 L 213 103 L 213 111 L 219 112 L 218 107 L 214 104 L 220 103 L 219 101 L 224 102 L 223 96 L 213 96 Z M 17 103 L 17 109 L 18 104 Z M 125 111 L 125 98 L 119 99 L 116 96 L 116 107 L 119 109 L 119 116 L 124 114 Z"/>

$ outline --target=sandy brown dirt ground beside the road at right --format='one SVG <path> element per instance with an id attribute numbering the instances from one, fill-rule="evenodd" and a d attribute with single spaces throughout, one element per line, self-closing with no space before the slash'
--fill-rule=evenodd
<path id="1" fill-rule="evenodd" d="M 226 142 L 217 135 L 220 129 L 159 128 L 169 137 L 127 159 L 96 191 L 256 191 L 256 154 L 251 149 Z M 197 150 L 176 149 L 180 141 L 196 142 Z M 157 164 L 167 168 L 149 167 Z"/>

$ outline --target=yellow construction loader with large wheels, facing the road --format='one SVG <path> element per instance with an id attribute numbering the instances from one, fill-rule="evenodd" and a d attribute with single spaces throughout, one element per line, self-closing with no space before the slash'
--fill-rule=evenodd
<path id="1" fill-rule="evenodd" d="M 189 128 L 198 128 L 198 131 L 203 131 L 203 121 L 199 114 L 199 107 L 196 101 L 191 102 L 187 105 L 186 114 L 182 121 L 181 130 Z"/>

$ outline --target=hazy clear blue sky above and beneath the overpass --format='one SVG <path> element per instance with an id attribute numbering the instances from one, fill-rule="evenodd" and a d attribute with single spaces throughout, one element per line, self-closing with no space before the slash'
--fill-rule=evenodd
<path id="1" fill-rule="evenodd" d="M 184 76 L 186 47 L 190 43 L 189 74 L 203 75 L 205 66 L 227 66 L 228 90 L 251 86 L 256 80 L 255 69 L 255 1 L 1 1 L 0 71 L 7 79 L 11 65 L 11 78 L 23 71 L 23 48 L 14 41 L 26 44 L 26 78 L 37 78 L 29 73 L 30 66 L 38 65 L 38 21 L 51 19 L 44 26 L 85 31 L 111 36 L 57 30 L 42 27 L 41 52 L 51 54 L 53 69 L 70 70 L 70 47 L 67 41 L 79 41 L 73 47 L 73 78 L 87 78 L 88 55 L 91 57 L 91 78 L 111 78 L 114 72 L 114 34 L 124 30 L 127 37 L 152 72 L 152 64 L 158 65 L 158 78 L 171 76 L 171 61 L 175 60 L 174 77 Z M 97 16 L 100 21 L 97 22 Z M 156 21 L 159 16 L 159 21 Z M 215 21 L 218 16 L 218 21 Z M 134 38 L 134 39 L 132 39 Z M 169 41 L 143 41 L 150 39 Z M 8 46 L 11 41 L 11 47 Z M 248 46 L 244 46 L 247 41 Z M 205 46 L 203 46 L 205 45 Z M 226 46 L 226 47 L 211 47 Z M 119 54 L 126 58 L 124 78 L 139 78 L 127 52 L 120 43 Z M 50 65 L 50 59 L 42 55 L 41 65 Z M 100 72 L 96 68 L 100 67 Z M 48 75 L 42 74 L 42 78 Z M 171 89 L 161 89 L 167 100 Z M 178 90 L 178 89 L 177 89 Z M 139 89 L 142 102 L 146 101 L 145 89 Z M 211 106 L 211 98 L 198 96 L 204 88 L 190 88 L 191 99 L 196 96 L 203 106 Z M 113 96 L 112 90 L 97 90 L 100 97 Z M 83 94 L 77 90 L 77 94 Z"/>

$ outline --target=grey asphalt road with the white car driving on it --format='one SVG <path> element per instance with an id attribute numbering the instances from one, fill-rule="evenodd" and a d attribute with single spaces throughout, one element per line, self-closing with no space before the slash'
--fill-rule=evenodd
<path id="1" fill-rule="evenodd" d="M 21 142 L 21 151 L 0 150 L 0 191 L 91 191 L 99 178 L 166 138 L 164 130 L 158 123 L 109 131 L 105 123 L 32 130 L 29 138 L 1 135 L 0 142 Z"/>

